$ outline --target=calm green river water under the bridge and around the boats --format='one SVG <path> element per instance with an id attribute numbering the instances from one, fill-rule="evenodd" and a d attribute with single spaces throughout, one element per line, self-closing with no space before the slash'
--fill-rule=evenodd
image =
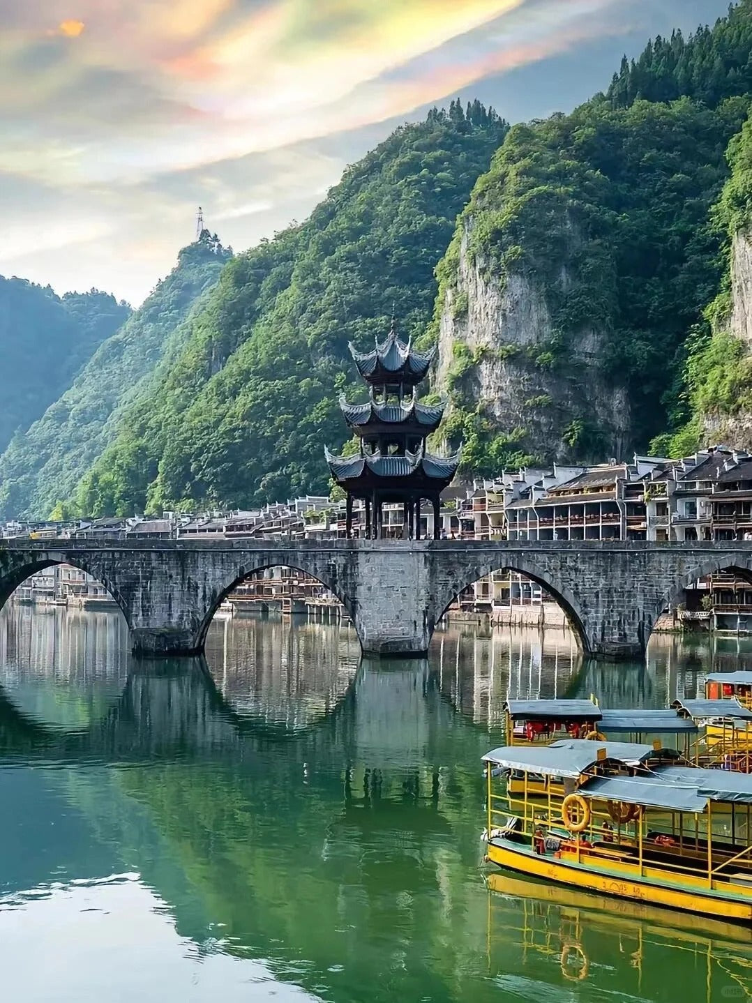
<path id="1" fill-rule="evenodd" d="M 747 999 L 752 936 L 481 868 L 508 696 L 661 706 L 752 645 L 449 628 L 360 663 L 336 626 L 213 625 L 136 663 L 117 614 L 0 616 L 0 972 L 14 1001 Z"/>

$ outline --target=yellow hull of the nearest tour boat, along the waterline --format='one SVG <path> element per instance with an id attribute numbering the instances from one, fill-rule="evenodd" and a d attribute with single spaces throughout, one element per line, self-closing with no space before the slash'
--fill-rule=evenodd
<path id="1" fill-rule="evenodd" d="M 538 856 L 502 840 L 493 840 L 488 844 L 487 856 L 491 863 L 500 868 L 543 878 L 559 885 L 688 913 L 722 916 L 738 922 L 752 923 L 752 896 L 746 902 L 718 892 L 703 891 L 701 887 L 682 888 L 665 880 L 637 878 L 616 869 L 594 870 L 582 864 Z"/>

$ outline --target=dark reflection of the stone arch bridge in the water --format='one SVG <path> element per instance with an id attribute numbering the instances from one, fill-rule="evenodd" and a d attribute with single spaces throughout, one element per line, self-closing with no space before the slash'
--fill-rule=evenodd
<path id="1" fill-rule="evenodd" d="M 366 759 L 371 767 L 384 758 L 403 766 L 422 763 L 435 730 L 428 724 L 426 697 L 432 694 L 431 712 L 445 719 L 439 734 L 455 723 L 454 711 L 441 700 L 427 661 L 377 666 L 362 662 L 337 704 L 298 730 L 239 712 L 218 690 L 203 658 L 134 662 L 119 699 L 102 717 L 68 730 L 29 713 L 0 686 L 0 761 L 227 760 L 253 768 L 260 749 L 284 743 L 286 768 L 295 759 L 315 762 L 320 772 L 339 770 L 343 754 L 345 761 Z"/>

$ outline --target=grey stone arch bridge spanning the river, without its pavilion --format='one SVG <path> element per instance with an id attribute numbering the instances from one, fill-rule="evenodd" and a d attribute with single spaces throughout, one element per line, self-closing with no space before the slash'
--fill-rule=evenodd
<path id="1" fill-rule="evenodd" d="M 752 543 L 621 541 L 0 540 L 0 607 L 54 564 L 111 594 L 134 653 L 195 655 L 225 597 L 251 573 L 285 565 L 343 603 L 364 653 L 421 655 L 447 606 L 493 571 L 520 572 L 563 607 L 586 655 L 641 659 L 656 620 L 712 572 L 752 581 Z"/>

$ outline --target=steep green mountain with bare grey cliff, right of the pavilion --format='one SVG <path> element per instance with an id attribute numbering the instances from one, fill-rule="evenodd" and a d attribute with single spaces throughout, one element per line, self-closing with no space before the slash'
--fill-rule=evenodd
<path id="1" fill-rule="evenodd" d="M 742 0 L 656 39 L 572 114 L 509 131 L 439 266 L 430 330 L 466 469 L 623 457 L 678 420 L 751 92 Z"/>

